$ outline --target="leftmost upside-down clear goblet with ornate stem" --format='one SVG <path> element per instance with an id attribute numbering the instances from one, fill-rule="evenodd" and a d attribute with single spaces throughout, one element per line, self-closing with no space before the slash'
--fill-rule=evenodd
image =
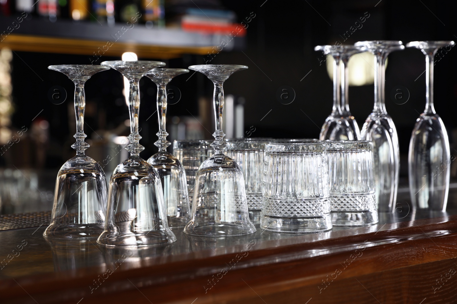
<path id="1" fill-rule="evenodd" d="M 48 69 L 62 72 L 74 82 L 76 156 L 65 162 L 57 174 L 51 224 L 43 233 L 53 238 L 91 238 L 103 231 L 106 212 L 106 178 L 101 166 L 85 155 L 85 82 L 95 73 L 109 70 L 96 65 L 58 65 Z"/>

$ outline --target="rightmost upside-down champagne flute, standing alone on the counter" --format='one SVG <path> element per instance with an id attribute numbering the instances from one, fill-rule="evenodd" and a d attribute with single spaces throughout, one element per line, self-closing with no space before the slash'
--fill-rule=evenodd
<path id="1" fill-rule="evenodd" d="M 451 152 L 446 128 L 433 106 L 433 67 L 436 51 L 454 46 L 454 41 L 414 41 L 425 55 L 425 110 L 414 125 L 409 141 L 409 193 L 413 206 L 429 211 L 446 211 Z"/>

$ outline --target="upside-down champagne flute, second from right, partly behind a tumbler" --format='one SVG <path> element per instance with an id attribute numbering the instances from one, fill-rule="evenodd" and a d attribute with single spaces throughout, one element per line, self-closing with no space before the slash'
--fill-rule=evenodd
<path id="1" fill-rule="evenodd" d="M 386 111 L 385 75 L 386 60 L 390 52 L 403 50 L 402 41 L 359 41 L 375 55 L 374 107 L 361 129 L 361 137 L 373 142 L 376 201 L 379 212 L 393 213 L 397 201 L 400 170 L 400 152 L 397 129 Z"/>

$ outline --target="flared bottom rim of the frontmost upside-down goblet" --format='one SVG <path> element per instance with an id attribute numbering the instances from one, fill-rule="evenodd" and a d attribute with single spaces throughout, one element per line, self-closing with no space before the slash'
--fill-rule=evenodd
<path id="1" fill-rule="evenodd" d="M 176 236 L 173 233 L 164 233 L 162 231 L 132 232 L 112 236 L 109 233 L 104 233 L 97 240 L 98 244 L 106 247 L 153 247 L 173 242 L 176 242 Z"/>

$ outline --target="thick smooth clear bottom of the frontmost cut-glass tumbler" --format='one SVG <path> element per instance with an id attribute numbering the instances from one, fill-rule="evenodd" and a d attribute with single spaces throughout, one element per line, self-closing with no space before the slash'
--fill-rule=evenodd
<path id="1" fill-rule="evenodd" d="M 272 232 L 321 232 L 332 229 L 330 213 L 322 216 L 268 216 L 260 218 L 260 228 Z"/>

